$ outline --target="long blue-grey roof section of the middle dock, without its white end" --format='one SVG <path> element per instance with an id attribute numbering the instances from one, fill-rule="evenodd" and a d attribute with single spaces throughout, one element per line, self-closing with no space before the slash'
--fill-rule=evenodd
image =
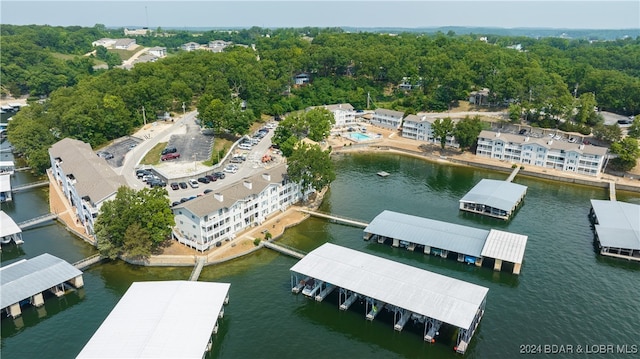
<path id="1" fill-rule="evenodd" d="M 364 229 L 390 238 L 480 257 L 489 231 L 383 211 Z"/>

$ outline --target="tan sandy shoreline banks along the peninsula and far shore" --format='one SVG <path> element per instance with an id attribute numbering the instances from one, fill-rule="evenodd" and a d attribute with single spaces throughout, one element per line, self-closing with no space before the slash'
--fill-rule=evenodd
<path id="1" fill-rule="evenodd" d="M 380 128 L 376 128 L 376 130 L 384 131 L 384 129 Z M 441 154 L 440 146 L 402 137 L 393 139 L 394 134 L 395 133 L 389 133 L 386 136 L 383 136 L 380 140 L 367 143 L 350 143 L 350 145 L 346 146 L 342 145 L 342 143 L 338 144 L 338 141 L 335 139 L 328 142 L 329 145 L 332 145 L 332 156 L 340 156 L 349 153 L 395 153 L 403 156 L 419 158 L 433 163 L 484 168 L 492 171 L 504 172 L 507 175 L 512 171 L 513 164 L 506 161 L 477 157 L 476 155 L 468 152 L 460 153 L 458 150 L 455 150 L 456 153 L 453 153 L 451 149 L 447 148 L 445 148 L 443 154 Z M 340 138 L 339 141 L 344 142 L 344 139 Z M 429 146 L 430 151 L 420 150 L 420 145 Z M 600 174 L 598 176 L 591 177 L 544 167 L 527 166 L 521 169 L 518 175 L 599 188 L 607 188 L 613 182 L 616 185 L 616 189 L 640 193 L 640 181 L 613 177 L 607 174 Z M 268 241 L 274 242 L 282 237 L 286 229 L 302 223 L 309 217 L 309 215 L 303 214 L 299 209 L 303 207 L 308 209 L 317 209 L 322 204 L 327 190 L 328 188 L 325 188 L 320 191 L 316 198 L 306 205 L 294 205 L 286 209 L 284 212 L 273 214 L 260 226 L 251 227 L 240 232 L 234 240 L 224 243 L 221 247 L 214 247 L 208 251 L 199 252 L 172 239 L 170 245 L 163 249 L 163 254 L 151 255 L 146 260 L 133 260 L 126 257 L 122 257 L 120 259 L 129 264 L 148 267 L 191 267 L 196 266 L 198 260 L 201 258 L 205 260 L 205 266 L 221 264 L 241 258 L 264 247 L 262 241 L 266 240 L 264 239 L 265 231 L 268 231 L 272 235 Z M 49 193 L 51 213 L 60 213 L 61 215 L 58 219 L 65 225 L 67 230 L 95 246 L 88 236 L 78 233 L 79 228 L 75 228 L 77 225 L 73 223 L 71 216 L 63 215 L 70 213 L 72 210 L 70 205 L 65 203 L 67 202 L 66 198 L 62 196 L 57 185 L 51 183 L 51 178 Z M 64 210 L 61 211 L 60 205 L 63 206 Z M 261 238 L 261 243 L 258 245 L 254 244 L 254 240 L 256 238 Z"/>

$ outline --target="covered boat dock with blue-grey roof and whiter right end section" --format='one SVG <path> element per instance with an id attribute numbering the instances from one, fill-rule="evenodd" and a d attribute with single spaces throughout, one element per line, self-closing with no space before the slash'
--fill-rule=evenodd
<path id="1" fill-rule="evenodd" d="M 424 247 L 425 254 L 447 257 L 458 254 L 458 261 L 482 265 L 483 258 L 495 260 L 494 269 L 502 262 L 513 263 L 513 273 L 520 274 L 527 236 L 492 229 L 490 231 L 436 221 L 408 214 L 383 211 L 364 229 L 365 240 L 414 250 Z"/>

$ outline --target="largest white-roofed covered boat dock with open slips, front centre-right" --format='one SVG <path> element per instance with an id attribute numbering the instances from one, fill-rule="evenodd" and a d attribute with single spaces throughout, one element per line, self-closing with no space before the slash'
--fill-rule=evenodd
<path id="1" fill-rule="evenodd" d="M 310 296 L 327 288 L 340 289 L 340 309 L 357 298 L 366 301 L 367 319 L 383 308 L 394 312 L 394 328 L 408 320 L 424 323 L 424 338 L 432 341 L 440 325 L 460 328 L 457 351 L 464 352 L 482 318 L 488 288 L 325 243 L 291 267 L 292 291 L 301 284 Z M 312 282 L 312 287 L 305 286 Z M 316 300 L 318 297 L 316 296 Z"/>

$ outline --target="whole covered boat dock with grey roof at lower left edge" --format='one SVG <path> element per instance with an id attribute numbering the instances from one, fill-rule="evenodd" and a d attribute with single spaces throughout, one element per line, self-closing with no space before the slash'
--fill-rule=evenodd
<path id="1" fill-rule="evenodd" d="M 0 268 L 0 307 L 16 318 L 22 314 L 20 303 L 29 301 L 35 307 L 44 304 L 43 292 L 56 296 L 65 292 L 65 282 L 76 288 L 84 285 L 82 272 L 64 260 L 45 253 Z"/>

